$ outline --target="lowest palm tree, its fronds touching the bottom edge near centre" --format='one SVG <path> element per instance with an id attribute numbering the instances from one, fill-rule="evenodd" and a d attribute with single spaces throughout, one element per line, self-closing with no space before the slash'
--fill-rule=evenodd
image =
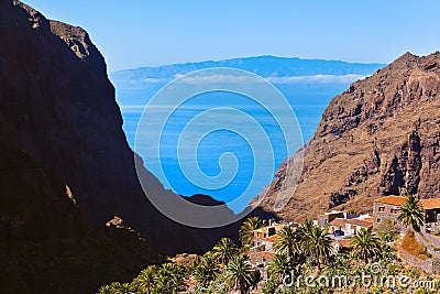
<path id="1" fill-rule="evenodd" d="M 226 281 L 233 290 L 239 290 L 240 293 L 245 294 L 256 286 L 260 279 L 260 272 L 252 270 L 251 265 L 246 263 L 244 257 L 238 257 L 232 260 L 226 271 Z"/>

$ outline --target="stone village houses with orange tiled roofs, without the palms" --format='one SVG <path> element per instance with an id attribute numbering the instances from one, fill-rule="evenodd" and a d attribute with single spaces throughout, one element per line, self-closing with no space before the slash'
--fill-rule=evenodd
<path id="1" fill-rule="evenodd" d="M 317 216 L 314 225 L 326 230 L 331 237 L 331 254 L 351 250 L 353 237 L 361 231 L 372 230 L 373 235 L 386 222 L 388 228 L 393 228 L 396 240 L 389 242 L 399 258 L 408 265 L 419 269 L 428 274 L 440 274 L 440 198 L 420 199 L 424 221 L 413 240 L 414 246 L 424 248 L 425 257 L 419 252 L 410 252 L 403 246 L 403 239 L 408 227 L 399 220 L 402 207 L 405 205 L 406 197 L 385 196 L 374 200 L 372 215 L 354 215 L 353 211 L 332 210 Z M 294 230 L 300 224 L 276 222 L 270 220 L 266 226 L 254 230 L 253 247 L 249 251 L 250 263 L 260 269 L 263 279 L 268 279 L 267 266 L 275 258 L 277 250 L 277 235 L 285 226 L 290 226 Z"/>

